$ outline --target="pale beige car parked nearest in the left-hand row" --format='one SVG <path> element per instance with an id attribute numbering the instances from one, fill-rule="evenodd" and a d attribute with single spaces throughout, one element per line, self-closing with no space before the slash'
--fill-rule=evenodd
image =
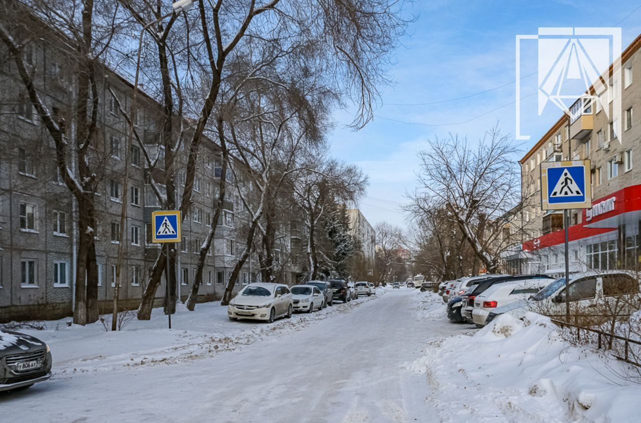
<path id="1" fill-rule="evenodd" d="M 292 317 L 294 304 L 287 285 L 267 282 L 247 285 L 232 298 L 227 307 L 229 320 L 266 320 L 271 323 L 279 317 Z"/>

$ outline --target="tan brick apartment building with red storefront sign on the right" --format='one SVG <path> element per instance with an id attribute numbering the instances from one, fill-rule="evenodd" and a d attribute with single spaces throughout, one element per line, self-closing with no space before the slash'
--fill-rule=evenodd
<path id="1" fill-rule="evenodd" d="M 620 77 L 604 78 L 612 90 L 595 92 L 592 87 L 599 99 L 578 99 L 570 108 L 572 116 L 562 116 L 520 160 L 526 239 L 521 272 L 556 275 L 565 269 L 563 212 L 540 208 L 540 163 L 545 160 L 591 161 L 593 207 L 570 212 L 570 271 L 639 266 L 640 47 L 641 35 L 622 53 Z M 619 91 L 617 119 L 612 111 Z"/>

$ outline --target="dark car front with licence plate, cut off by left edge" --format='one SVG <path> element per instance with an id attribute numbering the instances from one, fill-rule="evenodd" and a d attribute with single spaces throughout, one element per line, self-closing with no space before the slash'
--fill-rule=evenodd
<path id="1" fill-rule="evenodd" d="M 34 336 L 0 331 L 0 391 L 29 388 L 51 377 L 49 346 Z"/>

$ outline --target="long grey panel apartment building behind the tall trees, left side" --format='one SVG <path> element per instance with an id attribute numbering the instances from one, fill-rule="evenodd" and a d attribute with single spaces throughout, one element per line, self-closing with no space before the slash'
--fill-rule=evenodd
<path id="1" fill-rule="evenodd" d="M 35 18 L 33 23 L 38 24 Z M 77 77 L 74 60 L 65 55 L 64 40 L 59 33 L 41 24 L 38 31 L 41 37 L 27 44 L 24 58 L 29 71 L 35 75 L 35 85 L 44 102 L 56 116 L 66 117 L 65 130 L 72 139 L 75 128 L 71 110 Z M 58 45 L 56 40 L 60 41 Z M 15 63 L 9 60 L 3 43 L 0 43 L 0 57 L 4 58 L 0 65 L 0 322 L 69 316 L 76 280 L 76 204 L 58 175 L 53 141 L 26 96 Z M 130 110 L 133 85 L 106 67 L 96 72 L 100 101 L 90 166 L 99 179 L 95 200 L 99 213 L 96 253 L 99 302 L 101 312 L 105 312 L 113 300 L 119 245 L 124 244 L 119 298 L 121 305 L 129 309 L 138 306 L 149 270 L 160 252 L 160 245 L 151 243 L 150 233 L 151 212 L 160 209 L 160 205 L 147 184 L 149 173 L 160 170 L 149 169 L 141 146 L 134 143 L 129 151 L 128 188 L 124 192 L 124 154 L 129 125 L 119 103 L 123 110 Z M 144 140 L 144 149 L 152 157 L 162 157 L 163 147 L 158 141 L 162 106 L 143 92 L 138 94 L 137 110 L 133 121 Z M 69 150 L 69 160 L 74 163 L 76 156 L 71 148 Z M 187 162 L 184 144 L 178 156 L 177 168 L 184 168 Z M 194 282 L 199 248 L 210 230 L 222 173 L 220 157 L 219 146 L 206 139 L 197 159 L 192 207 L 183 222 L 183 239 L 178 245 L 176 272 L 179 297 L 183 300 Z M 158 176 L 162 180 L 162 175 Z M 176 179 L 179 203 L 185 173 L 178 171 Z M 199 301 L 220 298 L 245 242 L 238 236 L 247 222 L 247 213 L 237 195 L 237 186 L 246 192 L 249 184 L 234 180 L 230 173 L 228 182 L 231 189 L 228 189 L 228 200 L 206 258 Z M 121 239 L 123 202 L 127 202 L 128 207 L 125 235 Z M 288 223 L 283 223 L 283 227 L 290 229 Z M 289 249 L 289 243 L 283 243 L 279 254 L 288 255 Z M 300 272 L 296 265 L 287 270 Z M 257 281 L 260 281 L 260 270 L 256 254 L 252 254 L 236 289 Z M 159 305 L 164 291 L 163 280 L 156 292 Z"/>

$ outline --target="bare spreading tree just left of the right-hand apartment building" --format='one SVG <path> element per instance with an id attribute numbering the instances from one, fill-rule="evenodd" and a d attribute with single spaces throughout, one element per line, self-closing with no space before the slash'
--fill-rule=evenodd
<path id="1" fill-rule="evenodd" d="M 520 202 L 517 151 L 497 128 L 475 144 L 451 135 L 419 151 L 419 186 L 410 196 L 413 214 L 429 221 L 434 211 L 444 211 L 441 216 L 458 227 L 487 272 L 497 271 L 501 253 L 520 239 L 518 228 L 510 236 L 505 230 L 514 225 L 511 211 Z"/>

